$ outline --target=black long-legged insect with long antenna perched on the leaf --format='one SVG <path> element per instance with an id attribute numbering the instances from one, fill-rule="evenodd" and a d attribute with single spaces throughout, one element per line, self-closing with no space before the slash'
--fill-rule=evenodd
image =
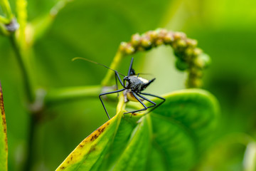
<path id="1" fill-rule="evenodd" d="M 79 57 L 78 57 L 79 58 Z M 73 61 L 75 59 L 78 59 L 78 58 L 74 58 Z M 87 58 L 80 58 L 80 59 L 83 59 L 85 61 L 90 61 L 88 60 Z M 99 98 L 100 98 L 100 101 L 103 105 L 103 108 L 105 109 L 105 112 L 107 113 L 107 109 L 102 101 L 102 98 L 101 96 L 102 95 L 107 95 L 107 94 L 112 94 L 112 93 L 119 93 L 121 91 L 124 91 L 124 100 L 125 102 L 127 102 L 128 100 L 133 100 L 133 101 L 138 101 L 139 103 L 141 103 L 143 105 L 144 108 L 142 109 L 139 109 L 139 110 L 134 110 L 134 111 L 131 111 L 131 112 L 127 112 L 127 113 L 136 113 L 136 112 L 139 112 L 139 111 L 142 111 L 142 110 L 146 110 L 148 108 L 151 108 L 151 110 L 149 110 L 147 113 L 151 112 L 152 110 L 156 109 L 157 107 L 159 107 L 159 105 L 161 105 L 162 103 L 164 103 L 165 101 L 165 98 L 162 98 L 162 97 L 159 97 L 157 95 L 152 95 L 152 94 L 149 94 L 149 93 L 142 93 L 142 90 L 145 90 L 145 88 L 147 86 L 149 86 L 149 84 L 151 84 L 156 78 L 153 78 L 151 80 L 146 80 L 144 78 L 141 78 L 139 77 L 139 73 L 136 74 L 134 69 L 132 68 L 132 63 L 134 61 L 134 58 L 132 58 L 131 60 L 131 63 L 130 63 L 130 66 L 129 66 L 129 71 L 128 71 L 128 74 L 127 76 L 124 76 L 122 73 L 119 73 L 115 70 L 113 70 L 112 68 L 109 68 L 110 70 L 114 71 L 115 73 L 115 80 L 116 80 L 116 86 L 117 86 L 117 80 L 119 81 L 119 83 L 122 85 L 122 89 L 119 89 L 118 90 L 118 86 L 117 86 L 117 90 L 114 90 L 112 92 L 107 92 L 107 93 L 101 93 L 99 95 Z M 97 63 L 95 61 L 90 61 L 92 63 L 96 63 L 96 64 L 99 64 L 101 66 L 104 66 L 102 65 L 101 63 Z M 105 66 L 106 68 L 108 68 L 107 66 Z M 120 78 L 119 75 L 122 75 L 124 76 L 123 78 L 123 81 L 122 79 Z M 154 103 L 154 101 L 151 101 L 149 100 L 148 98 L 145 98 L 144 95 L 149 95 L 149 96 L 153 96 L 153 97 L 156 97 L 156 98 L 160 98 L 161 100 L 161 103 L 159 103 L 158 105 L 156 105 L 156 103 Z M 140 99 L 142 98 L 142 99 Z M 149 103 L 151 103 L 152 105 L 150 105 L 149 107 L 147 107 L 142 101 L 143 100 L 146 100 L 148 101 Z M 154 107 L 154 108 L 153 108 Z M 124 114 L 127 114 L 127 113 L 124 113 Z M 110 119 L 110 115 L 107 113 L 107 117 Z"/>

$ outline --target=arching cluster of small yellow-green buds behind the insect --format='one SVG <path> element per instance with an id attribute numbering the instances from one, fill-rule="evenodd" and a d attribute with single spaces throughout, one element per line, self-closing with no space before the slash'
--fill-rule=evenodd
<path id="1" fill-rule="evenodd" d="M 167 31 L 158 28 L 155 31 L 147 31 L 141 36 L 139 33 L 132 35 L 129 42 L 122 42 L 119 51 L 124 55 L 130 55 L 137 51 L 148 51 L 160 45 L 170 45 L 174 49 L 176 68 L 180 71 L 188 71 L 188 88 L 202 86 L 203 69 L 210 64 L 210 57 L 197 48 L 197 41 L 187 38 L 185 33 Z"/>

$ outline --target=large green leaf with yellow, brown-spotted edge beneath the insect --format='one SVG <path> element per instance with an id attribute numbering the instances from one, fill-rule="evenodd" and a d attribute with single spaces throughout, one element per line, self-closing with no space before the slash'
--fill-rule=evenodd
<path id="1" fill-rule="evenodd" d="M 218 103 L 200 89 L 163 97 L 166 102 L 148 115 L 123 118 L 119 110 L 57 170 L 190 170 L 212 138 Z"/>

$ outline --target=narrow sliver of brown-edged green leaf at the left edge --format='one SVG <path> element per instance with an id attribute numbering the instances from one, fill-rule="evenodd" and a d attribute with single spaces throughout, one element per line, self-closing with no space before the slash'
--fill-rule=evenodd
<path id="1" fill-rule="evenodd" d="M 4 100 L 0 83 L 0 170 L 7 170 L 7 136 L 6 136 L 6 117 L 4 113 Z"/>

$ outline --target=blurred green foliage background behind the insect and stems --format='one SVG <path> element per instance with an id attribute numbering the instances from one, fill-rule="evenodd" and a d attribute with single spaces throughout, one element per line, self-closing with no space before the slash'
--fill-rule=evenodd
<path id="1" fill-rule="evenodd" d="M 28 21 L 47 14 L 57 2 L 28 0 Z M 15 1 L 11 1 L 11 7 L 16 11 Z M 72 1 L 33 47 L 36 83 L 45 90 L 100 84 L 106 68 L 71 59 L 82 56 L 110 66 L 119 43 L 129 41 L 133 33 L 159 27 L 183 31 L 197 39 L 198 47 L 211 56 L 213 62 L 205 73 L 203 88 L 213 93 L 221 106 L 215 142 L 209 145 L 219 152 L 210 152 L 210 160 L 199 163 L 195 170 L 242 170 L 245 147 L 239 142 L 247 135 L 256 136 L 255 9 L 254 0 Z M 148 93 L 161 95 L 184 88 L 186 74 L 174 68 L 170 47 L 161 46 L 134 57 L 138 72 L 156 77 Z M 124 59 L 118 71 L 127 73 L 129 60 L 130 56 Z M 0 37 L 0 80 L 9 170 L 21 170 L 29 117 L 21 71 L 9 38 L 4 36 Z M 114 113 L 114 105 L 107 108 Z M 55 170 L 79 142 L 107 121 L 98 98 L 50 104 L 44 115 L 35 128 L 33 170 Z M 221 158 L 223 149 L 227 150 L 222 154 L 226 157 Z"/>

